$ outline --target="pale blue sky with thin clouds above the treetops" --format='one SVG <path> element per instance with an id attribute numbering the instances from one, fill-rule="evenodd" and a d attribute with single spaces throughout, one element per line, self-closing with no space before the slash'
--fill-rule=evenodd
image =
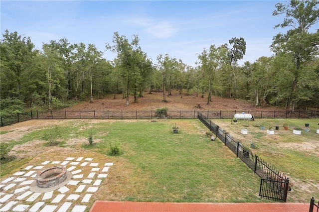
<path id="1" fill-rule="evenodd" d="M 107 60 L 115 54 L 106 51 L 114 32 L 140 46 L 152 61 L 159 54 L 181 59 L 195 67 L 197 55 L 210 45 L 219 46 L 243 37 L 246 54 L 238 61 L 253 63 L 272 56 L 273 36 L 287 29 L 277 28 L 284 16 L 273 16 L 276 0 L 1 0 L 1 38 L 9 32 L 30 37 L 36 49 L 42 43 L 67 38 L 73 43 L 94 44 Z"/>

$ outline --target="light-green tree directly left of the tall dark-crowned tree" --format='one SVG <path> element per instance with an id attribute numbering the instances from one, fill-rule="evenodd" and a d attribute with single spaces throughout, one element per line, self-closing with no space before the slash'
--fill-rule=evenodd
<path id="1" fill-rule="evenodd" d="M 211 93 L 216 71 L 225 65 L 227 48 L 224 45 L 219 47 L 211 45 L 209 49 L 204 49 L 203 52 L 198 55 L 198 59 L 203 71 L 203 76 L 206 79 L 206 86 L 208 89 L 207 105 L 209 105 L 211 102 Z"/>

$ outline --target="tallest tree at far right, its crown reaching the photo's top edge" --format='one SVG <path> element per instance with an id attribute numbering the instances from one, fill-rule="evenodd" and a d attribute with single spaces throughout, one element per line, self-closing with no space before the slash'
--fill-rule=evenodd
<path id="1" fill-rule="evenodd" d="M 319 30 L 310 33 L 314 24 L 319 21 L 318 0 L 290 0 L 287 3 L 277 3 L 273 15 L 285 15 L 284 21 L 277 27 L 289 27 L 286 34 L 277 34 L 273 38 L 272 50 L 277 54 L 289 54 L 295 64 L 289 71 L 293 75 L 291 92 L 289 93 L 289 110 L 294 112 L 295 106 L 302 96 L 298 95 L 298 84 L 304 67 L 318 55 Z"/>

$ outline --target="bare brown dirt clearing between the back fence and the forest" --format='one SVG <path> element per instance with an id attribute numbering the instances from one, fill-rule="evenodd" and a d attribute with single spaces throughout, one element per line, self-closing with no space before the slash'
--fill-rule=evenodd
<path id="1" fill-rule="evenodd" d="M 130 97 L 130 106 L 125 106 L 126 100 L 122 98 L 122 95 L 116 95 L 116 99 L 112 96 L 104 99 L 96 99 L 93 103 L 84 102 L 75 106 L 67 108 L 67 111 L 121 111 L 121 110 L 155 110 L 160 107 L 167 107 L 169 110 L 197 110 L 195 107 L 200 105 L 200 110 L 271 110 L 274 111 L 274 107 L 259 107 L 248 101 L 226 99 L 220 97 L 212 97 L 212 102 L 207 105 L 207 96 L 201 98 L 200 95 L 181 95 L 177 91 L 173 91 L 171 96 L 167 96 L 167 103 L 163 103 L 163 93 L 144 94 L 144 97 L 138 99 L 138 103 L 133 103 L 133 96 Z M 276 110 L 283 110 L 277 108 Z"/>

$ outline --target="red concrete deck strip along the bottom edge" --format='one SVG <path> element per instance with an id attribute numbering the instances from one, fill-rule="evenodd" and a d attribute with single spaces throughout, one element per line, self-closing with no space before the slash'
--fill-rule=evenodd
<path id="1" fill-rule="evenodd" d="M 309 212 L 309 203 L 150 203 L 96 201 L 90 212 Z"/>

